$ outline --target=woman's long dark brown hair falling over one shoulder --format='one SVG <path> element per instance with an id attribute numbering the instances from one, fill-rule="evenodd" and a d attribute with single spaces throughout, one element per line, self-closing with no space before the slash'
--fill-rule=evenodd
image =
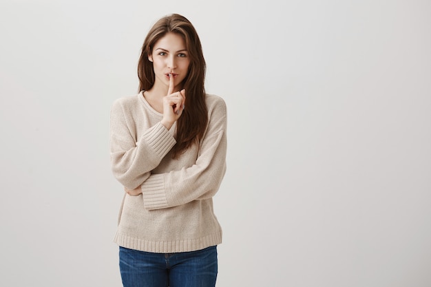
<path id="1" fill-rule="evenodd" d="M 185 110 L 176 123 L 176 145 L 172 148 L 174 158 L 183 153 L 204 135 L 208 123 L 208 109 L 205 104 L 206 63 L 198 33 L 185 17 L 170 14 L 158 20 L 145 38 L 138 63 L 139 92 L 149 90 L 154 85 L 153 63 L 148 56 L 152 54 L 156 42 L 168 32 L 176 33 L 185 40 L 190 64 L 187 76 L 182 82 L 186 90 Z"/>

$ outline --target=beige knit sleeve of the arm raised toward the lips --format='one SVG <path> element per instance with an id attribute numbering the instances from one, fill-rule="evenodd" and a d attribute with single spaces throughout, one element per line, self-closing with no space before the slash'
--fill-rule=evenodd
<path id="1" fill-rule="evenodd" d="M 135 120 L 127 105 L 121 101 L 114 103 L 110 123 L 112 173 L 127 189 L 142 184 L 176 143 L 160 122 L 137 139 Z"/>

